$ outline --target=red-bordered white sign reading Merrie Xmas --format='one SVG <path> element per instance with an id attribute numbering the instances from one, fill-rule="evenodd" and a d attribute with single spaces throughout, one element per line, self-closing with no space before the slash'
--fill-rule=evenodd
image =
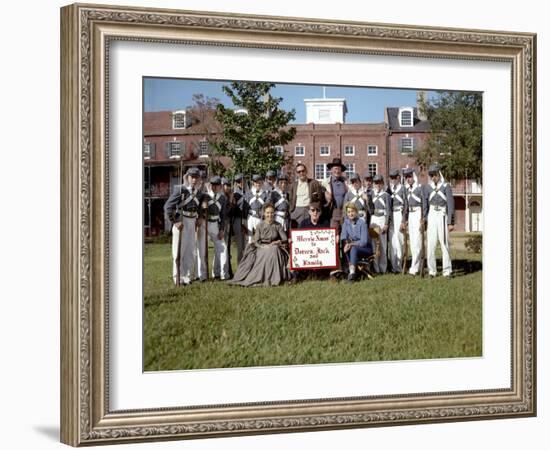
<path id="1" fill-rule="evenodd" d="M 290 230 L 292 270 L 336 269 L 340 267 L 336 228 Z"/>

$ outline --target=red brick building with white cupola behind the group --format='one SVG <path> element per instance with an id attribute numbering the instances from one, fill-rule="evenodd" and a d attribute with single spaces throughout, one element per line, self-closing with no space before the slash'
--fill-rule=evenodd
<path id="1" fill-rule="evenodd" d="M 388 107 L 380 123 L 345 123 L 345 99 L 305 99 L 306 124 L 295 124 L 295 138 L 278 148 L 301 162 L 310 176 L 322 180 L 327 164 L 341 158 L 347 174 L 380 173 L 387 178 L 393 168 L 414 167 L 414 153 L 429 137 L 426 118 L 412 106 Z M 211 117 L 208 118 L 211 121 Z M 181 172 L 195 166 L 206 169 L 209 159 L 207 136 L 220 132 L 217 124 L 191 120 L 187 111 L 144 114 L 144 211 L 145 232 L 157 235 L 169 229 L 163 205 Z M 222 159 L 228 166 L 231 161 Z M 417 168 L 418 169 L 418 168 Z M 424 173 L 421 182 L 426 182 Z M 481 186 L 471 180 L 451 183 L 458 231 L 482 231 Z"/>

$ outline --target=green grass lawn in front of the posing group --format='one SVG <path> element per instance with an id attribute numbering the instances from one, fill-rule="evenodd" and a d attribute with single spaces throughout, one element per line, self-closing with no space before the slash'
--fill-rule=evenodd
<path id="1" fill-rule="evenodd" d="M 144 368 L 481 356 L 481 255 L 452 253 L 450 280 L 383 275 L 352 285 L 176 288 L 170 246 L 147 244 Z"/>

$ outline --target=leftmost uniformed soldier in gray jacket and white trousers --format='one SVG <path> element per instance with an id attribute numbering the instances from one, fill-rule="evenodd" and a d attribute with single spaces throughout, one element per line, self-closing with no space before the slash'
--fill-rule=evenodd
<path id="1" fill-rule="evenodd" d="M 198 189 L 199 176 L 198 169 L 189 169 L 186 183 L 175 186 L 172 195 L 164 204 L 164 212 L 172 223 L 172 278 L 175 284 L 191 283 L 191 272 L 195 261 L 195 229 L 202 195 Z M 179 280 L 177 280 L 178 256 Z"/>

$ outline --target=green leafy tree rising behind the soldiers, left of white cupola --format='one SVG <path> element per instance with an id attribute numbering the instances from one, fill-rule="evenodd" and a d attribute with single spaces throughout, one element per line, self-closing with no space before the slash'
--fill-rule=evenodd
<path id="1" fill-rule="evenodd" d="M 270 94 L 274 86 L 248 81 L 223 86 L 235 108 L 217 106 L 215 117 L 221 126 L 221 136 L 212 147 L 215 153 L 233 160 L 232 174 L 263 174 L 292 163 L 292 157 L 279 153 L 276 146 L 287 144 L 296 135 L 296 128 L 288 126 L 295 111 L 279 107 L 282 98 Z"/>

